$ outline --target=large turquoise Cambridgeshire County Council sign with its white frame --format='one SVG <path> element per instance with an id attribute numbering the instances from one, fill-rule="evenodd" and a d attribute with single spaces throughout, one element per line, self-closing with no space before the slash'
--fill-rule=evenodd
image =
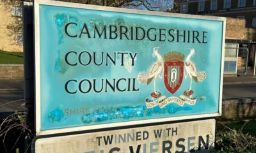
<path id="1" fill-rule="evenodd" d="M 35 1 L 36 133 L 221 115 L 225 18 Z"/>

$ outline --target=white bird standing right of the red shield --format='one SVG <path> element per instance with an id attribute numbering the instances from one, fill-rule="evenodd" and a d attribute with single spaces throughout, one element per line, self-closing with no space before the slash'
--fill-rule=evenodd
<path id="1" fill-rule="evenodd" d="M 192 55 L 195 55 L 195 50 L 193 48 L 190 48 L 190 54 L 188 55 L 188 57 L 186 58 L 185 61 L 185 66 L 184 69 L 186 69 L 187 75 L 185 73 L 185 78 L 188 77 L 191 79 L 190 81 L 190 87 L 189 89 L 186 91 L 186 93 L 188 93 L 189 91 L 191 91 L 191 86 L 192 86 L 192 78 L 193 80 L 195 80 L 195 82 L 202 82 L 205 79 L 205 72 L 201 71 L 201 72 L 197 72 L 196 71 L 196 64 L 195 62 L 191 61 L 190 58 L 192 57 Z"/>

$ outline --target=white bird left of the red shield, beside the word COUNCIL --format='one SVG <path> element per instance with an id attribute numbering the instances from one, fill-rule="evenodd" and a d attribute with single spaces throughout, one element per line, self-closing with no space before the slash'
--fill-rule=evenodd
<path id="1" fill-rule="evenodd" d="M 158 48 L 159 47 L 155 47 L 154 48 L 154 52 L 153 54 L 156 55 L 157 57 L 157 61 L 154 62 L 149 70 L 148 70 L 148 73 L 139 73 L 138 75 L 138 81 L 141 83 L 141 84 L 150 84 L 150 82 L 152 82 L 152 80 L 154 79 L 154 92 L 156 95 L 159 94 L 159 92 L 156 92 L 156 78 L 159 77 L 159 78 L 162 78 L 163 77 L 163 72 L 162 72 L 162 75 L 160 76 L 160 73 L 161 71 L 163 70 L 163 58 L 161 57 L 161 55 L 158 53 Z"/>

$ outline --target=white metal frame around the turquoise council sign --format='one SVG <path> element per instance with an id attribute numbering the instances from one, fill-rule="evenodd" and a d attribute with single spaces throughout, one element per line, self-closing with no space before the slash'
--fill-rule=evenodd
<path id="1" fill-rule="evenodd" d="M 222 87 L 223 87 L 223 69 L 224 69 L 224 57 L 225 57 L 225 29 L 226 29 L 226 18 L 223 17 L 210 17 L 210 16 L 201 16 L 201 15 L 186 15 L 181 13 L 163 13 L 158 11 L 143 11 L 143 10 L 132 10 L 124 8 L 111 8 L 106 6 L 94 6 L 88 4 L 77 4 L 77 3 L 66 3 L 60 1 L 48 1 L 48 0 L 35 0 L 34 1 L 34 23 L 35 23 L 35 129 L 36 135 L 51 135 L 56 133 L 67 133 L 75 131 L 84 131 L 89 129 L 103 129 L 103 128 L 113 128 L 120 126 L 131 126 L 136 124 L 148 124 L 156 122 L 166 122 L 166 121 L 175 121 L 175 120 L 188 120 L 188 119 L 202 119 L 206 117 L 217 117 L 221 116 L 221 105 L 222 105 Z M 222 50 L 221 50 L 221 75 L 220 75 L 220 98 L 219 98 L 219 110 L 218 113 L 209 113 L 203 115 L 188 115 L 182 117 L 167 117 L 161 119 L 147 119 L 147 120 L 135 120 L 127 122 L 116 122 L 111 124 L 100 124 L 92 126 L 79 126 L 74 128 L 62 128 L 62 129 L 51 129 L 44 130 L 40 129 L 41 120 L 40 120 L 40 4 L 49 5 L 49 6 L 62 6 L 68 8 L 82 8 L 88 10 L 101 10 L 101 11 L 113 11 L 120 13 L 135 13 L 141 15 L 154 15 L 159 17 L 179 17 L 179 18 L 195 18 L 201 20 L 220 20 L 223 21 L 223 35 L 222 35 Z"/>

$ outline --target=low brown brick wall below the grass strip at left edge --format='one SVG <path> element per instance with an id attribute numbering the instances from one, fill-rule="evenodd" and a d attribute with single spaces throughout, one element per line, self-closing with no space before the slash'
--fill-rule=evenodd
<path id="1" fill-rule="evenodd" d="M 23 79 L 23 64 L 0 64 L 0 79 Z"/>

